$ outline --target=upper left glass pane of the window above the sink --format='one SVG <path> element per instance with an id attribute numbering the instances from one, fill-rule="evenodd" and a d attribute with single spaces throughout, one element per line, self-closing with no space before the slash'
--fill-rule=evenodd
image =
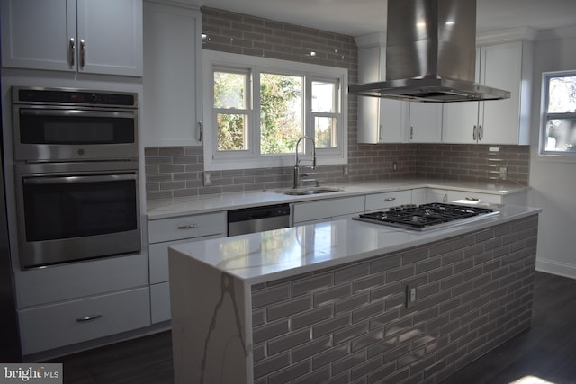
<path id="1" fill-rule="evenodd" d="M 247 74 L 214 72 L 214 107 L 244 110 Z"/>

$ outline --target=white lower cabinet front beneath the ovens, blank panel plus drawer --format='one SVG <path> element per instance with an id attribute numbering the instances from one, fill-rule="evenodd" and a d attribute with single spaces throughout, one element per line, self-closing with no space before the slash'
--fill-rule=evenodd
<path id="1" fill-rule="evenodd" d="M 150 326 L 144 254 L 18 270 L 14 277 L 23 355 Z"/>

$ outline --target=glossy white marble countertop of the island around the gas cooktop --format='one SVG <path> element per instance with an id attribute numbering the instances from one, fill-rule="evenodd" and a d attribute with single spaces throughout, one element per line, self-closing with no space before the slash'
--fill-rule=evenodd
<path id="1" fill-rule="evenodd" d="M 512 205 L 497 210 L 500 214 L 495 216 L 468 223 L 455 221 L 454 225 L 422 232 L 341 219 L 185 243 L 171 246 L 170 252 L 256 284 L 464 235 L 541 211 Z"/>

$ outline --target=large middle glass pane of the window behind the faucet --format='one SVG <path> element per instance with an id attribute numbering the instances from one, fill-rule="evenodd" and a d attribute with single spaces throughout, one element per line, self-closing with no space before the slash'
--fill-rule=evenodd
<path id="1" fill-rule="evenodd" d="M 302 126 L 302 77 L 262 73 L 260 152 L 292 153 Z"/>

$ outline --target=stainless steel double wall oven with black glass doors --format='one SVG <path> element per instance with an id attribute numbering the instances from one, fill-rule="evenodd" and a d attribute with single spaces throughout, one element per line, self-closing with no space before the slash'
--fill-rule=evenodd
<path id="1" fill-rule="evenodd" d="M 13 88 L 23 269 L 138 253 L 138 94 Z"/>

